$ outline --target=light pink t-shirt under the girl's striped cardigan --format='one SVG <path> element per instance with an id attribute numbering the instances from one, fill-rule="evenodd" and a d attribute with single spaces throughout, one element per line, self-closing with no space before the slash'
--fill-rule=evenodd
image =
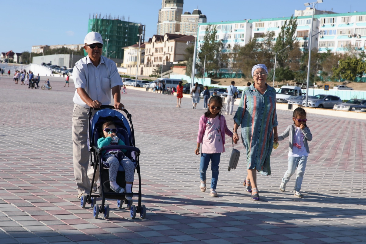
<path id="1" fill-rule="evenodd" d="M 221 138 L 220 116 L 207 118 L 205 133 L 202 139 L 202 153 L 224 153 L 225 147 Z"/>

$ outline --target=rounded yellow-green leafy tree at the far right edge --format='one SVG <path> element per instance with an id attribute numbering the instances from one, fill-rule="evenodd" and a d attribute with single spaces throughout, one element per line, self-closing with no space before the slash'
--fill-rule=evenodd
<path id="1" fill-rule="evenodd" d="M 362 77 L 363 72 L 366 72 L 365 60 L 357 57 L 348 56 L 345 60 L 339 60 L 338 67 L 333 67 L 333 78 L 342 78 L 354 81 L 356 77 Z"/>

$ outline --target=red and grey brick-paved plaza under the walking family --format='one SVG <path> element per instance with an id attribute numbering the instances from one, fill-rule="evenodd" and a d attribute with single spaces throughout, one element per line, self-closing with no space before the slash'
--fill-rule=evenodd
<path id="1" fill-rule="evenodd" d="M 242 144 L 236 146 L 238 168 L 228 172 L 227 140 L 215 198 L 199 190 L 199 156 L 194 154 L 203 101 L 192 109 L 191 100 L 183 98 L 179 109 L 174 96 L 127 87 L 122 103 L 132 114 L 141 149 L 147 216 L 132 220 L 126 208 L 110 200 L 110 218 L 94 219 L 90 205 L 82 209 L 76 198 L 74 85 L 63 87 L 64 79 L 53 78 L 51 91 L 35 90 L 14 85 L 12 77 L 0 78 L 0 244 L 366 243 L 365 120 L 307 116 L 313 141 L 303 198 L 291 192 L 295 176 L 285 192 L 279 190 L 288 139 L 273 150 L 272 174 L 258 176 L 259 202 L 243 187 Z M 292 112 L 277 110 L 277 115 L 280 134 L 292 123 Z M 225 117 L 232 128 L 232 116 Z M 210 176 L 208 170 L 208 181 Z M 136 180 L 137 173 L 134 187 Z"/>

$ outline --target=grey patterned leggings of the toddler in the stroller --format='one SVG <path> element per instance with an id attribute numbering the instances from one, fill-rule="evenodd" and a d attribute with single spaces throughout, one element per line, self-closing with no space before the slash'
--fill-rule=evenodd
<path id="1" fill-rule="evenodd" d="M 116 181 L 118 167 L 121 164 L 124 168 L 124 175 L 127 182 L 134 181 L 134 163 L 126 156 L 123 157 L 121 162 L 113 154 L 107 154 L 103 157 L 105 161 L 109 163 L 109 181 Z"/>

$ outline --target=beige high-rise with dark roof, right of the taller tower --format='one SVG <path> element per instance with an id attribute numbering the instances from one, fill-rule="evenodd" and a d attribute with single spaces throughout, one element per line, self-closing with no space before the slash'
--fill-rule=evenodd
<path id="1" fill-rule="evenodd" d="M 184 12 L 180 16 L 180 32 L 181 35 L 193 35 L 196 36 L 197 27 L 199 23 L 206 23 L 207 17 L 203 15 L 201 10 L 195 9 L 192 14 L 190 12 Z"/>

